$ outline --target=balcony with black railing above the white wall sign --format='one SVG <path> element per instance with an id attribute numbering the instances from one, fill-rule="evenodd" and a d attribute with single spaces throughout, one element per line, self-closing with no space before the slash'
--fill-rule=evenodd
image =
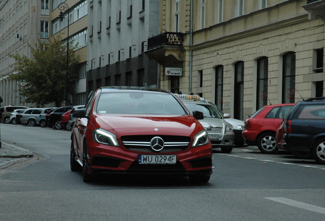
<path id="1" fill-rule="evenodd" d="M 165 32 L 148 38 L 145 54 L 162 65 L 172 65 L 183 61 L 183 50 L 183 33 Z"/>

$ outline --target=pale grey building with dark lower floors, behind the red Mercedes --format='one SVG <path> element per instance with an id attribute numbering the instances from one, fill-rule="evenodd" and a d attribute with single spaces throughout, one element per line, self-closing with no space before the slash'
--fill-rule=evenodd
<path id="1" fill-rule="evenodd" d="M 100 86 L 157 86 L 149 36 L 159 33 L 159 0 L 89 0 L 87 93 Z"/>

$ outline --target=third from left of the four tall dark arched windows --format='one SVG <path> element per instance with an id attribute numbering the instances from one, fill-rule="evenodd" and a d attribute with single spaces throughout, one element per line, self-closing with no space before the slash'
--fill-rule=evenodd
<path id="1" fill-rule="evenodd" d="M 262 57 L 258 59 L 258 70 L 257 70 L 257 109 L 260 109 L 264 105 L 267 105 L 268 101 L 268 58 Z"/>

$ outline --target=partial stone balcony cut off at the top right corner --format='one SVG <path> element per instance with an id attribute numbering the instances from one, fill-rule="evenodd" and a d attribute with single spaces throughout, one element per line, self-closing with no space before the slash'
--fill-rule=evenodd
<path id="1" fill-rule="evenodd" d="M 308 11 L 309 19 L 321 19 L 325 23 L 325 0 L 307 0 L 307 5 L 302 6 Z"/>

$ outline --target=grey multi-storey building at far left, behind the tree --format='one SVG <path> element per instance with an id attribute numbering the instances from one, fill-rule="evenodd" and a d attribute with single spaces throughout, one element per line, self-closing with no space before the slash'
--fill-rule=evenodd
<path id="1" fill-rule="evenodd" d="M 10 67 L 14 58 L 10 54 L 31 56 L 28 44 L 35 45 L 37 38 L 49 40 L 50 0 L 0 1 L 0 97 L 2 105 L 34 106 L 20 96 L 20 82 L 9 81 L 14 73 Z"/>

